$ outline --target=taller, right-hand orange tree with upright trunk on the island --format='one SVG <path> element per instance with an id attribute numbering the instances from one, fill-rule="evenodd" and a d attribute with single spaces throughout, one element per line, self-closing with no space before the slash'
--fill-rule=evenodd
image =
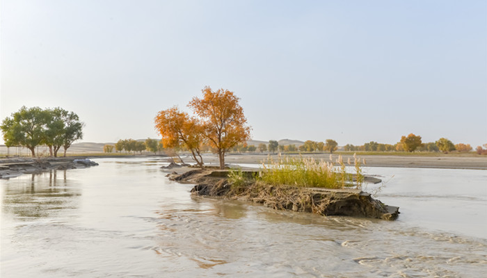
<path id="1" fill-rule="evenodd" d="M 188 106 L 201 117 L 203 135 L 216 149 L 220 169 L 224 169 L 225 153 L 250 138 L 250 126 L 247 126 L 240 99 L 233 92 L 223 89 L 212 91 L 207 86 L 202 93 L 201 99 L 193 97 Z"/>

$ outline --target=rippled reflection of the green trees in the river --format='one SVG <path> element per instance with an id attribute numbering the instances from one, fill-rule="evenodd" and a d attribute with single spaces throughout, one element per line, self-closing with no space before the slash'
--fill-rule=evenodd
<path id="1" fill-rule="evenodd" d="M 81 190 L 69 185 L 66 170 L 25 174 L 3 185 L 2 211 L 21 220 L 47 218 L 59 210 L 76 208 Z"/>

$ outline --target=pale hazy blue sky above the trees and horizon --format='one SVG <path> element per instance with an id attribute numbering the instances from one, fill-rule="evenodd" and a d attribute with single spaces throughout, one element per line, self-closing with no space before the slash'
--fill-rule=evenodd
<path id="1" fill-rule="evenodd" d="M 232 90 L 256 140 L 487 142 L 487 2 L 1 1 L 0 117 L 61 106 L 84 142 Z M 3 140 L 1 140 L 3 143 Z"/>

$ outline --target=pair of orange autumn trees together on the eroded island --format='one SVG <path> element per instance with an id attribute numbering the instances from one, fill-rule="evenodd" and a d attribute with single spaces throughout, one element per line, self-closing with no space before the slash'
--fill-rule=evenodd
<path id="1" fill-rule="evenodd" d="M 225 154 L 250 138 L 250 127 L 233 92 L 205 87 L 202 93 L 202 98 L 193 97 L 188 104 L 196 117 L 174 106 L 157 114 L 155 128 L 164 147 L 188 149 L 200 167 L 202 148 L 214 149 L 224 169 Z"/>

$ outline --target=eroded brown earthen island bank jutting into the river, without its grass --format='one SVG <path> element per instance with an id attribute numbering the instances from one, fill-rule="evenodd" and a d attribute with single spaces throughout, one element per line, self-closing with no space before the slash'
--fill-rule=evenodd
<path id="1" fill-rule="evenodd" d="M 248 177 L 253 173 L 244 172 Z M 383 220 L 396 220 L 399 215 L 399 207 L 387 206 L 358 189 L 272 186 L 252 179 L 237 185 L 230 183 L 227 174 L 227 170 L 190 170 L 168 177 L 181 183 L 195 183 L 191 190 L 194 195 L 246 200 L 280 210 Z"/>

